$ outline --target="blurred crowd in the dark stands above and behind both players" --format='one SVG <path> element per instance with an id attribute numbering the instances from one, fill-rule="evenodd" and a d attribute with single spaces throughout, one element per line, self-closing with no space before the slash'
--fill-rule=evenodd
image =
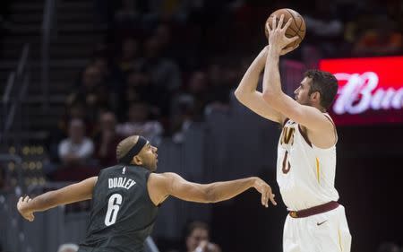
<path id="1" fill-rule="evenodd" d="M 72 80 L 64 116 L 48 141 L 48 177 L 98 173 L 93 168 L 113 164 L 116 144 L 127 135 L 144 135 L 155 145 L 162 137 L 182 143 L 186 129 L 211 109 L 227 111 L 251 56 L 266 43 L 268 14 L 283 7 L 304 16 L 307 35 L 287 58 L 306 67 L 322 57 L 403 52 L 399 0 L 98 0 L 94 9 L 107 32 Z M 81 172 L 58 169 L 60 163 Z"/>

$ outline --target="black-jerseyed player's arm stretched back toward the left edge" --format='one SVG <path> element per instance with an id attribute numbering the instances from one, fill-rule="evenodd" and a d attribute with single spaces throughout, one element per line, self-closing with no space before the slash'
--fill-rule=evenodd
<path id="1" fill-rule="evenodd" d="M 92 198 L 92 190 L 98 177 L 87 178 L 79 183 L 47 192 L 31 199 L 29 196 L 21 197 L 17 209 L 22 217 L 32 222 L 33 213 L 43 212 L 60 204 L 71 204 Z"/>

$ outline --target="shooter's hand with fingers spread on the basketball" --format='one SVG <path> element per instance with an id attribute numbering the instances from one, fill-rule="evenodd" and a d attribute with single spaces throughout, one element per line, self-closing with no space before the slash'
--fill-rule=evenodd
<path id="1" fill-rule="evenodd" d="M 279 23 L 277 23 L 276 21 L 277 21 L 277 17 L 274 16 L 274 18 L 272 19 L 272 23 L 271 23 L 271 29 L 270 29 L 269 22 L 266 23 L 266 29 L 269 32 L 269 45 L 270 45 L 270 47 L 275 48 L 275 49 L 279 50 L 280 52 L 282 52 L 283 48 L 286 48 L 288 44 L 296 41 L 296 39 L 298 39 L 298 36 L 295 36 L 295 37 L 289 38 L 289 39 L 286 36 L 286 30 L 287 30 L 288 26 L 291 24 L 292 19 L 289 19 L 283 28 L 281 28 L 281 26 L 283 25 L 283 22 L 284 22 L 284 15 L 283 14 L 281 15 L 281 17 L 279 19 Z M 295 49 L 295 48 L 292 48 L 291 50 L 293 50 L 293 49 Z M 289 52 L 291 50 L 289 50 L 289 48 L 287 48 L 287 52 Z"/>

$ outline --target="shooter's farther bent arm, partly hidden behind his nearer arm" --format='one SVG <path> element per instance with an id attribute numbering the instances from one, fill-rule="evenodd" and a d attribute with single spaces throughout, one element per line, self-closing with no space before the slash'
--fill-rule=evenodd
<path id="1" fill-rule="evenodd" d="M 285 55 L 295 48 L 284 49 L 281 51 L 281 55 Z M 278 110 L 270 107 L 270 105 L 263 100 L 262 92 L 256 90 L 260 74 L 266 63 L 268 50 L 269 47 L 263 48 L 259 55 L 253 60 L 253 63 L 249 66 L 236 88 L 235 96 L 239 102 L 259 116 L 282 123 L 285 117 Z"/>

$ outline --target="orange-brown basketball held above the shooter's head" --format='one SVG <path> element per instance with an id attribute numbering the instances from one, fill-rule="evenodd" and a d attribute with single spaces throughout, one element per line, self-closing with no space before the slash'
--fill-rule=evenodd
<path id="1" fill-rule="evenodd" d="M 293 19 L 293 22 L 291 22 L 291 24 L 288 26 L 288 29 L 286 30 L 286 36 L 287 36 L 287 38 L 293 38 L 295 36 L 298 36 L 298 39 L 296 39 L 296 41 L 289 44 L 286 48 L 294 47 L 294 46 L 298 45 L 299 43 L 301 43 L 301 41 L 305 37 L 306 27 L 305 27 L 304 18 L 294 10 L 279 9 L 279 10 L 275 11 L 274 13 L 271 13 L 269 18 L 266 21 L 266 23 L 269 22 L 270 29 L 271 29 L 271 25 L 273 23 L 272 18 L 274 17 L 274 15 L 276 15 L 276 17 L 277 17 L 276 23 L 279 23 L 279 19 L 282 14 L 284 14 L 284 22 L 283 22 L 282 27 L 284 27 L 286 25 L 286 23 L 288 22 L 288 19 L 290 19 L 290 18 Z M 266 24 L 264 27 L 264 32 L 266 34 L 266 38 L 269 39 L 269 32 L 266 29 Z"/>

